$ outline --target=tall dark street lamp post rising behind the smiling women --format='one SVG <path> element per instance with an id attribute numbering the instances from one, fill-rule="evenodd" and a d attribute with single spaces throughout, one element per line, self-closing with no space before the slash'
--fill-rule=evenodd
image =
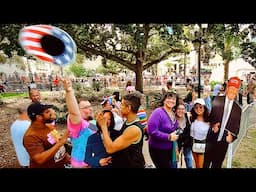
<path id="1" fill-rule="evenodd" d="M 207 28 L 207 24 L 202 24 L 201 27 L 197 24 L 194 27 L 195 30 L 195 39 L 193 40 L 193 44 L 195 49 L 197 50 L 197 69 L 198 69 L 198 98 L 201 97 L 201 46 L 203 43 L 206 43 L 206 40 L 203 39 L 203 35 L 205 33 L 205 29 Z M 201 31 L 201 29 L 203 31 Z"/>

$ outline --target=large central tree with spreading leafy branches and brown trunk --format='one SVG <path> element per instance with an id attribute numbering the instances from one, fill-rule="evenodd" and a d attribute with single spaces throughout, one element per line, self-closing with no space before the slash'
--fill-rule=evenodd
<path id="1" fill-rule="evenodd" d="M 69 24 L 59 25 L 86 57 L 102 56 L 105 68 L 113 62 L 136 73 L 136 89 L 143 91 L 142 72 L 182 50 L 183 25 L 165 24 Z M 167 27 L 173 28 L 169 34 Z M 112 62 L 108 62 L 108 61 Z"/>

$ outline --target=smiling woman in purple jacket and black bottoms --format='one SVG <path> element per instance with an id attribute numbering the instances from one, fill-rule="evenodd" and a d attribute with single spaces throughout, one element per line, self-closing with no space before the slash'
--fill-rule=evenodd
<path id="1" fill-rule="evenodd" d="M 178 139 L 174 132 L 178 128 L 173 112 L 176 101 L 176 93 L 167 92 L 162 107 L 156 108 L 148 119 L 149 153 L 156 168 L 171 168 L 172 145 Z"/>

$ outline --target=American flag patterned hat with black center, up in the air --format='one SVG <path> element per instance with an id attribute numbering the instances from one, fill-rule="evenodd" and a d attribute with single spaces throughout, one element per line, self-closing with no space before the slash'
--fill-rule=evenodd
<path id="1" fill-rule="evenodd" d="M 72 63 L 76 55 L 76 44 L 69 34 L 50 25 L 24 27 L 19 43 L 26 54 L 57 65 Z"/>

